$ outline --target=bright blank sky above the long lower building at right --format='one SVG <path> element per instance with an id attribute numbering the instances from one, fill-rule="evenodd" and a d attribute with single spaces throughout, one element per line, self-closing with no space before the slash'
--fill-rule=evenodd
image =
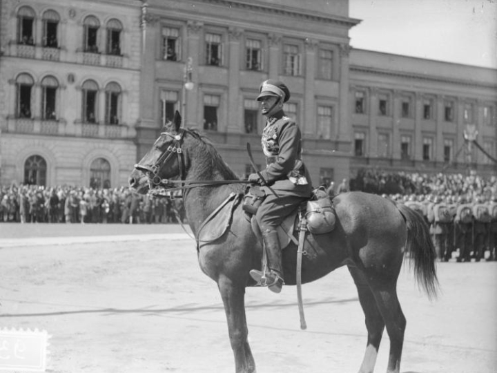
<path id="1" fill-rule="evenodd" d="M 497 68 L 497 0 L 349 0 L 353 48 Z"/>

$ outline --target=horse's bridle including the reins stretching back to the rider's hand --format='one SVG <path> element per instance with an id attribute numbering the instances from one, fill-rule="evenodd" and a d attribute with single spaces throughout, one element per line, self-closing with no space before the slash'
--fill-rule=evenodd
<path id="1" fill-rule="evenodd" d="M 188 180 L 186 181 L 184 152 L 182 150 L 182 142 L 184 137 L 184 129 L 179 129 L 179 133 L 173 135 L 168 132 L 161 132 L 161 135 L 166 135 L 173 139 L 173 144 L 170 144 L 167 149 L 157 158 L 151 166 L 144 164 L 135 164 L 135 169 L 146 174 L 148 179 L 148 193 L 152 195 L 172 196 L 174 191 L 182 191 L 195 187 L 205 187 L 216 184 L 248 184 L 247 180 Z M 171 158 L 177 155 L 177 163 L 179 167 L 179 180 L 162 179 L 159 171 L 164 164 Z"/>

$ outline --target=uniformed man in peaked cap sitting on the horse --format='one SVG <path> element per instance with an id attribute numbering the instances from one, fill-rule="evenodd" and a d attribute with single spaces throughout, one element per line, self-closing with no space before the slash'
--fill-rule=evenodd
<path id="1" fill-rule="evenodd" d="M 264 268 L 263 271 L 252 269 L 250 274 L 260 285 L 267 285 L 271 291 L 279 293 L 284 277 L 277 227 L 311 196 L 312 186 L 309 172 L 302 162 L 300 128 L 283 112 L 283 104 L 290 98 L 289 88 L 282 82 L 268 79 L 262 82 L 259 90 L 257 101 L 266 117 L 261 139 L 266 169 L 251 174 L 249 181 L 262 185 L 266 192 L 255 218 L 264 239 L 269 271 L 264 274 Z M 265 284 L 261 284 L 264 275 Z"/>

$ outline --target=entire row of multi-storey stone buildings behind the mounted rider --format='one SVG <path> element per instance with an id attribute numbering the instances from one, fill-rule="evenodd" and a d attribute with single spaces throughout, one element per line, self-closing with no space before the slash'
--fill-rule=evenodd
<path id="1" fill-rule="evenodd" d="M 0 184 L 126 185 L 175 111 L 243 177 L 269 78 L 291 90 L 313 184 L 496 173 L 496 70 L 353 50 L 347 0 L 0 4 Z"/>

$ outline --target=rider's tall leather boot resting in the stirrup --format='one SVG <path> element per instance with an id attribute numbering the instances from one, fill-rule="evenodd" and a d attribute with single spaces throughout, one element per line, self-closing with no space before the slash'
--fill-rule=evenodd
<path id="1" fill-rule="evenodd" d="M 268 286 L 269 290 L 279 293 L 284 284 L 280 239 L 277 231 L 270 230 L 263 231 L 262 238 L 266 247 L 269 271 L 264 274 L 262 271 L 252 269 L 250 274 L 260 285 Z"/>

